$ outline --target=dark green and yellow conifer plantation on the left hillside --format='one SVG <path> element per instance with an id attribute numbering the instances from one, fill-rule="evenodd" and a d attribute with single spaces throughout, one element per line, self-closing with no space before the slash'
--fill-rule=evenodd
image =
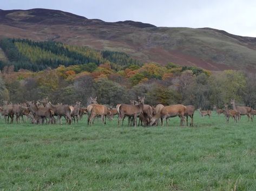
<path id="1" fill-rule="evenodd" d="M 96 51 L 85 46 L 52 41 L 35 42 L 29 39 L 3 38 L 0 40 L 0 47 L 8 58 L 8 62 L 0 61 L 0 70 L 10 65 L 14 65 L 15 71 L 41 71 L 48 67 L 55 69 L 59 65 L 109 63 L 117 71 L 130 64 L 141 65 L 141 62 L 123 52 Z"/>

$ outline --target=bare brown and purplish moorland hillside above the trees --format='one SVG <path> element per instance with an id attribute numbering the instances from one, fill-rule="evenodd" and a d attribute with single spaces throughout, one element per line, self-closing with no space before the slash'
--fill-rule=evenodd
<path id="1" fill-rule="evenodd" d="M 97 50 L 125 52 L 142 62 L 256 72 L 256 38 L 202 28 L 163 28 L 124 21 L 108 23 L 48 10 L 0 10 L 0 38 L 54 40 Z"/>

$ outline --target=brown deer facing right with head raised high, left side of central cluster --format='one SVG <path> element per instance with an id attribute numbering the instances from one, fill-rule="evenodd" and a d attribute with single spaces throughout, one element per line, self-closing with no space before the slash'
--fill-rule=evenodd
<path id="1" fill-rule="evenodd" d="M 140 115 L 140 113 L 143 110 L 143 103 L 144 103 L 144 98 L 140 98 L 140 103 L 139 105 L 128 105 L 128 104 L 121 104 L 119 107 L 117 107 L 117 112 L 119 113 L 119 118 L 118 118 L 118 125 L 120 125 L 120 120 L 122 119 L 122 124 L 123 120 L 126 116 L 128 117 L 134 117 L 134 127 L 137 126 L 137 117 Z"/>

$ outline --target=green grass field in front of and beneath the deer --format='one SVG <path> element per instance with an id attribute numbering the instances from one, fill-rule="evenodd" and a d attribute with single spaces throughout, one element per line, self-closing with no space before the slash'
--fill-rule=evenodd
<path id="1" fill-rule="evenodd" d="M 256 127 L 0 124 L 0 190 L 256 190 Z M 126 123 L 127 124 L 127 123 Z"/>

